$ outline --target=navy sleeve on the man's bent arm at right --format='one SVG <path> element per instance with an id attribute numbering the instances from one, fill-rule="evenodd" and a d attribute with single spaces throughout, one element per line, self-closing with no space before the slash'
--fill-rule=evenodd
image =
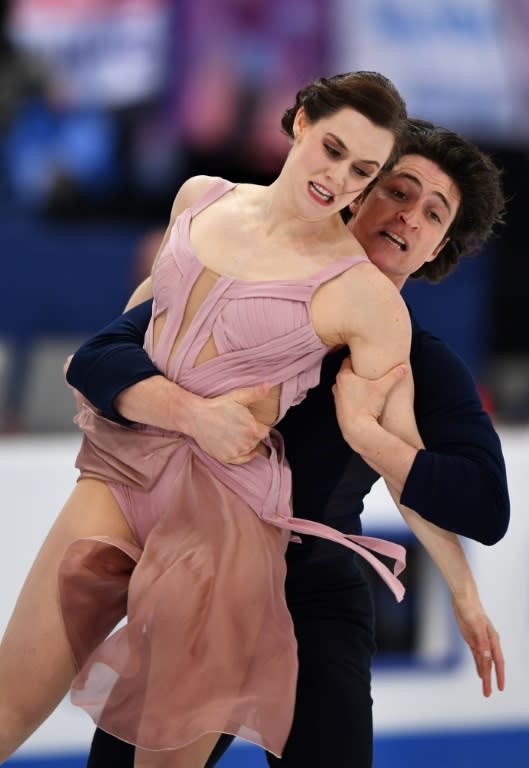
<path id="1" fill-rule="evenodd" d="M 412 346 L 418 452 L 401 502 L 441 528 L 494 544 L 509 524 L 499 437 L 463 361 L 423 333 Z"/>

